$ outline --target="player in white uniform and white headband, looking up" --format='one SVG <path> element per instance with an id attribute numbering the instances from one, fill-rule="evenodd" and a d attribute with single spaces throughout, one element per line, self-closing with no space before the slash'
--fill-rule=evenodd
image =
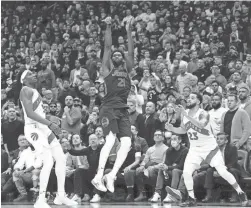
<path id="1" fill-rule="evenodd" d="M 58 185 L 58 195 L 54 203 L 68 206 L 77 205 L 77 202 L 65 196 L 66 160 L 62 147 L 54 135 L 54 133 L 58 135 L 61 130 L 56 124 L 51 123 L 45 118 L 42 98 L 35 89 L 37 82 L 36 74 L 25 70 L 21 75 L 20 82 L 24 85 L 20 92 L 20 101 L 24 112 L 25 137 L 34 146 L 36 154 L 39 154 L 43 159 L 43 167 L 40 173 L 39 197 L 34 207 L 50 207 L 46 203 L 45 193 L 54 160 L 56 162 L 55 171 Z"/>

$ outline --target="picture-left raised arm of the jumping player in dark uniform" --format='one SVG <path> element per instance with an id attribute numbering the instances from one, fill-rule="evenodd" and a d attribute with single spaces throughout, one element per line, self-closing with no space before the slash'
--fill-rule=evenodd
<path id="1" fill-rule="evenodd" d="M 111 17 L 107 17 L 106 31 L 105 31 L 105 48 L 102 62 L 103 76 L 106 77 L 110 72 L 110 59 L 111 59 L 111 48 L 112 48 L 112 30 L 111 30 Z"/>

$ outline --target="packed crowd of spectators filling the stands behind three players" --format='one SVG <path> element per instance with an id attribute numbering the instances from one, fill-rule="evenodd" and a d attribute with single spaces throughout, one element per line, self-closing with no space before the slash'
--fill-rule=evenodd
<path id="1" fill-rule="evenodd" d="M 26 201 L 32 191 L 34 200 L 39 190 L 43 158 L 25 139 L 19 103 L 17 78 L 25 68 L 37 73 L 47 118 L 62 128 L 67 194 L 78 202 L 108 198 L 90 183 L 105 143 L 99 106 L 105 95 L 100 70 L 107 16 L 113 19 L 112 48 L 124 53 L 125 25 L 133 19 L 135 57 L 128 97 L 133 142 L 116 180 L 116 187 L 127 191 L 122 200 L 185 199 L 182 170 L 189 141 L 165 125 L 180 126 L 177 105 L 186 107 L 195 91 L 203 95 L 201 108 L 210 114 L 227 168 L 238 182 L 251 177 L 250 8 L 246 1 L 2 2 L 2 198 Z M 106 173 L 119 145 L 117 140 Z M 49 198 L 56 191 L 55 177 L 52 170 Z M 204 202 L 224 184 L 218 179 L 207 164 L 194 173 L 195 191 L 206 190 Z M 163 196 L 166 186 L 179 197 Z"/>

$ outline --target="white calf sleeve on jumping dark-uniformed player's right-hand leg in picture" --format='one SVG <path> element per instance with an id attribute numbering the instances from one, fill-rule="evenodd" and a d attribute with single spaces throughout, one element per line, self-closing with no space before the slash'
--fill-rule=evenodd
<path id="1" fill-rule="evenodd" d="M 116 161 L 115 164 L 113 166 L 113 169 L 111 171 L 111 174 L 115 177 L 119 171 L 119 169 L 121 168 L 121 166 L 123 165 L 128 152 L 130 151 L 132 142 L 131 142 L 131 138 L 130 137 L 122 137 L 120 138 L 120 148 L 117 152 L 117 157 L 116 157 Z"/>

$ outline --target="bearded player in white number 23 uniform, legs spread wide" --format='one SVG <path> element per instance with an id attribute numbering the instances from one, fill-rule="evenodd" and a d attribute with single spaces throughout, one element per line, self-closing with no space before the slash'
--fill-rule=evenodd
<path id="1" fill-rule="evenodd" d="M 209 123 L 209 114 L 200 108 L 202 96 L 199 93 L 191 93 L 187 108 L 179 106 L 183 116 L 181 127 L 175 128 L 172 124 L 166 124 L 166 129 L 176 134 L 187 133 L 190 141 L 190 149 L 187 154 L 183 177 L 188 191 L 188 200 L 181 206 L 195 206 L 196 200 L 193 191 L 193 173 L 200 168 L 200 164 L 205 160 L 211 167 L 214 167 L 218 174 L 224 178 L 237 191 L 243 206 L 248 203 L 246 194 L 242 191 L 234 176 L 227 171 L 222 153 L 219 150 L 216 139 L 212 133 Z"/>

